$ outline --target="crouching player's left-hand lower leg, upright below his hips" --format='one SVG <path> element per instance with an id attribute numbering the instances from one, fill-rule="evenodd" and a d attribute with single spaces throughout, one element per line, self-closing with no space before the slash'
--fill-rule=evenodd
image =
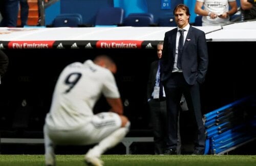
<path id="1" fill-rule="evenodd" d="M 47 166 L 55 165 L 54 144 L 48 136 L 48 129 L 44 126 L 44 139 L 45 139 L 45 163 Z"/>

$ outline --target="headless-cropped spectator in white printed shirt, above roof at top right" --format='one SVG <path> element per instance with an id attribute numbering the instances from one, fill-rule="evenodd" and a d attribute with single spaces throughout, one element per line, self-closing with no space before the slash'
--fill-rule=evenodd
<path id="1" fill-rule="evenodd" d="M 196 1 L 195 13 L 203 16 L 202 26 L 221 26 L 230 23 L 230 16 L 238 11 L 236 0 Z"/>

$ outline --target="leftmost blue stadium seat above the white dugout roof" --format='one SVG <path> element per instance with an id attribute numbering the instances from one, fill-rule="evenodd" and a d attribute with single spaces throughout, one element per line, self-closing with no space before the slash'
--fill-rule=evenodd
<path id="1" fill-rule="evenodd" d="M 62 13 L 57 15 L 51 27 L 79 27 L 82 25 L 82 15 L 79 13 Z M 49 26 L 47 26 L 49 27 Z"/>

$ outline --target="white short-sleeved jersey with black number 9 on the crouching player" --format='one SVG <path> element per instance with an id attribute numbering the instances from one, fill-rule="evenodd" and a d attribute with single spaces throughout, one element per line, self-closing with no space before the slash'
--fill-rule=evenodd
<path id="1" fill-rule="evenodd" d="M 46 124 L 57 130 L 84 126 L 93 115 L 92 109 L 102 93 L 106 98 L 120 98 L 115 78 L 109 69 L 91 60 L 68 65 L 56 83 Z"/>

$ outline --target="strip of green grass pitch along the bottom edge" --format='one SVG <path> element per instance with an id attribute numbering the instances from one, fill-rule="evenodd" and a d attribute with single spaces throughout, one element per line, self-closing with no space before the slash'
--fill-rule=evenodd
<path id="1" fill-rule="evenodd" d="M 83 155 L 56 155 L 57 166 L 79 166 L 83 162 Z M 104 165 L 172 165 L 172 166 L 229 166 L 229 165 L 256 165 L 256 155 L 102 155 Z M 3 166 L 43 166 L 44 155 L 0 155 L 0 165 Z"/>

